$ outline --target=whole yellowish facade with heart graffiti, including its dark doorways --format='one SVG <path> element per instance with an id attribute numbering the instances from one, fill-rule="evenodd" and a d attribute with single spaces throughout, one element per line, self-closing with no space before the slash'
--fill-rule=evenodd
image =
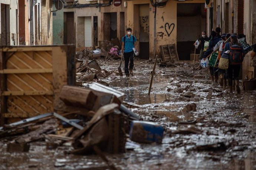
<path id="1" fill-rule="evenodd" d="M 132 27 L 141 58 L 154 58 L 154 16 L 156 12 L 156 54 L 160 45 L 175 44 L 180 59 L 194 53 L 194 42 L 206 30 L 204 0 L 167 1 L 154 7 L 150 0 L 133 0 L 127 4 L 127 26 Z M 143 50 L 142 50 L 143 49 Z M 143 53 L 142 53 L 143 51 Z"/>

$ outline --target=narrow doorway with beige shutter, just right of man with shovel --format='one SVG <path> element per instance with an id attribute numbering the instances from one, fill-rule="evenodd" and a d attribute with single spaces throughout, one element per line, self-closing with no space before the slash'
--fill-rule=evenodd
<path id="1" fill-rule="evenodd" d="M 140 16 L 140 58 L 149 58 L 149 4 L 141 4 L 139 6 Z"/>

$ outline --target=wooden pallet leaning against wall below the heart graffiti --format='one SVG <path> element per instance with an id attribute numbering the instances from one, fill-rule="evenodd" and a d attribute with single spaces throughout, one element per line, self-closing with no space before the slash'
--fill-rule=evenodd
<path id="1" fill-rule="evenodd" d="M 167 61 L 180 61 L 175 44 L 160 45 L 162 59 L 164 62 Z"/>

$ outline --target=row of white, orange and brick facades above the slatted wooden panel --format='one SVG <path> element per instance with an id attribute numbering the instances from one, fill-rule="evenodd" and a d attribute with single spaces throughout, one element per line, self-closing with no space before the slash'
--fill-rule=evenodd
<path id="1" fill-rule="evenodd" d="M 52 0 L 0 0 L 0 45 L 50 45 Z"/>

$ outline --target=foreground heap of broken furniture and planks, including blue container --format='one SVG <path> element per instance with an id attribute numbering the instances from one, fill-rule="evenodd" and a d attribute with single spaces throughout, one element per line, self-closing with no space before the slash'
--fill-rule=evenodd
<path id="1" fill-rule="evenodd" d="M 47 149 L 69 146 L 67 153 L 101 157 L 102 152 L 124 153 L 128 134 L 134 142 L 161 143 L 164 128 L 140 121 L 123 99 L 124 93 L 98 83 L 85 88 L 65 85 L 56 112 L 0 127 L 0 138 L 9 140 L 8 152 L 27 152 L 30 143 L 45 141 Z"/>

